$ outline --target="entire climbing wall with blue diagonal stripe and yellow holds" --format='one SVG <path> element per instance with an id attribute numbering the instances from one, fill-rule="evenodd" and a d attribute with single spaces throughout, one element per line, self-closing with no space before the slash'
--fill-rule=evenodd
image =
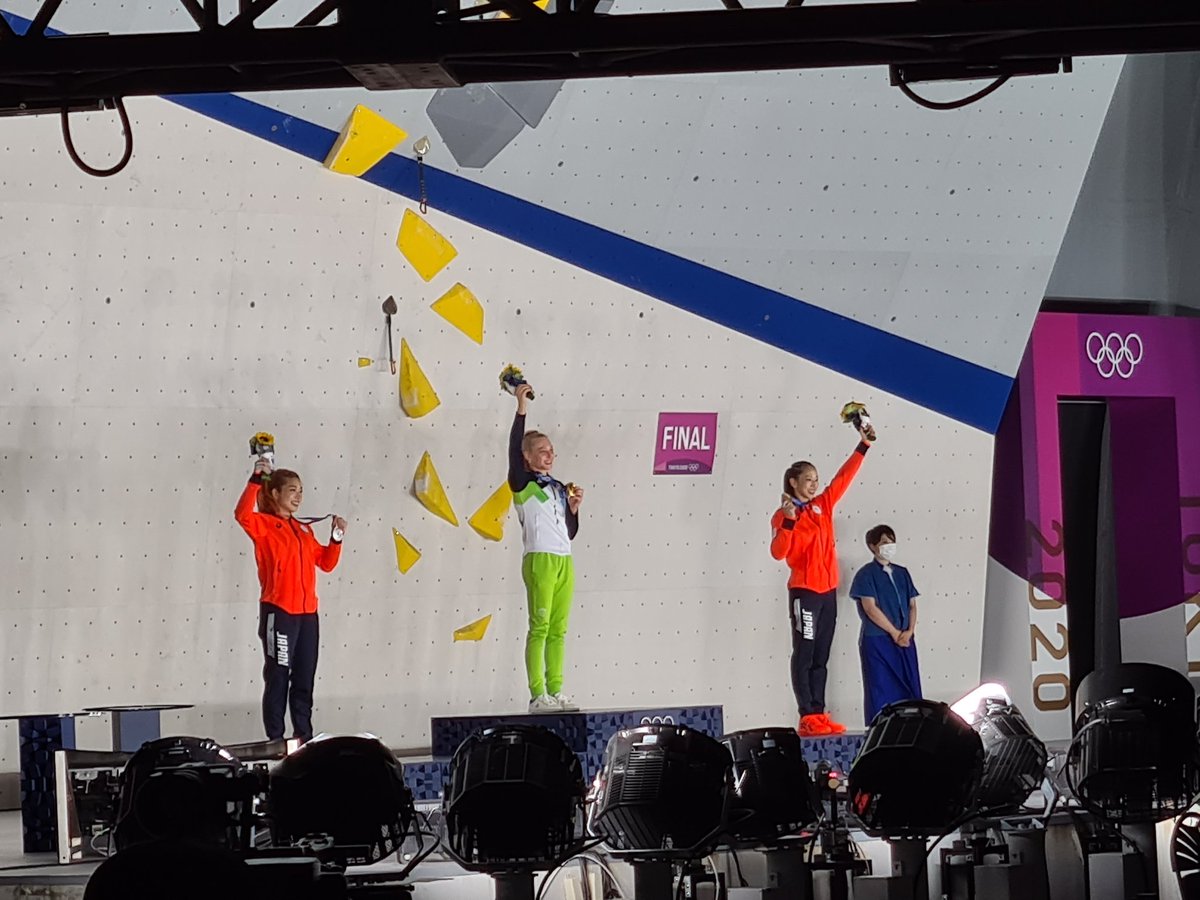
<path id="1" fill-rule="evenodd" d="M 114 29 L 163 26 L 133 6 Z M 0 142 L 6 708 L 194 702 L 173 727 L 259 733 L 232 521 L 258 430 L 307 512 L 350 520 L 320 581 L 318 726 L 421 746 L 430 715 L 523 708 L 518 535 L 496 497 L 510 362 L 587 490 L 581 701 L 791 721 L 767 522 L 788 463 L 828 479 L 853 448 L 847 400 L 881 439 L 838 511 L 844 580 L 892 524 L 926 691 L 953 698 L 979 672 L 991 431 L 1115 73 L 1088 61 L 946 116 L 878 72 L 565 85 L 484 169 L 450 154 L 430 92 L 131 102 L 134 162 L 104 181 L 55 122 L 18 122 Z M 360 103 L 406 132 L 383 126 L 398 143 L 361 178 L 320 164 L 362 164 L 337 146 Z M 112 120 L 76 130 L 92 162 L 119 151 Z M 716 414 L 712 475 L 652 474 L 664 412 Z M 840 616 L 830 704 L 857 725 Z"/>

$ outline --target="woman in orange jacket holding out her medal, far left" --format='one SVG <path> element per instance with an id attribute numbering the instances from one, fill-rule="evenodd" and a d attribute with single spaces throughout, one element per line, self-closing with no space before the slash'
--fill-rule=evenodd
<path id="1" fill-rule="evenodd" d="M 329 546 L 318 541 L 312 526 L 295 517 L 302 499 L 304 485 L 296 473 L 288 469 L 272 473 L 270 463 L 259 460 L 234 509 L 238 524 L 254 542 L 258 581 L 263 587 L 258 636 L 265 660 L 263 727 L 269 740 L 283 737 L 283 712 L 289 706 L 295 737 L 312 738 L 312 689 L 320 640 L 317 569 L 334 570 L 342 556 L 346 533 L 346 520 L 334 516 Z"/>

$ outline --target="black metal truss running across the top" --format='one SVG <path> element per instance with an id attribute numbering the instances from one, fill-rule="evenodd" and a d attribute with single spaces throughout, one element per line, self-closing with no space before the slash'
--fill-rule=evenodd
<path id="1" fill-rule="evenodd" d="M 1200 47 L 1200 5 L 1163 0 L 917 0 L 622 14 L 559 0 L 308 0 L 260 26 L 278 0 L 175 0 L 194 29 L 58 35 L 64 0 L 28 28 L 0 18 L 0 113 L 149 94 L 366 86 L 445 88 L 612 76 L 893 66 L 893 80 L 1057 71 L 1072 56 Z M 168 4 L 169 0 L 144 0 Z M 232 2 L 226 4 L 232 7 Z M 294 4 L 289 4 L 289 8 Z M 24 24 L 24 23 L 20 23 Z M 898 76 L 899 73 L 899 76 Z"/>

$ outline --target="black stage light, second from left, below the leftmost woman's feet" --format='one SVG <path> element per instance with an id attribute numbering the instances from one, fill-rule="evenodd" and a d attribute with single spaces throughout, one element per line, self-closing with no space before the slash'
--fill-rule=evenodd
<path id="1" fill-rule="evenodd" d="M 415 818 L 403 767 L 372 734 L 310 740 L 271 772 L 268 805 L 276 845 L 324 835 L 320 858 L 337 865 L 378 863 Z"/>

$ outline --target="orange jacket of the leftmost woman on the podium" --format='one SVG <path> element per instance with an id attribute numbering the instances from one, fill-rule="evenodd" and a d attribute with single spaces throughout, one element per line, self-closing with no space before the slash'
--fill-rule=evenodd
<path id="1" fill-rule="evenodd" d="M 342 556 L 342 545 L 326 547 L 317 540 L 312 527 L 294 518 L 258 512 L 254 503 L 262 486 L 251 481 L 238 498 L 233 517 L 254 542 L 262 601 L 283 612 L 317 612 L 317 566 L 331 572 Z"/>

